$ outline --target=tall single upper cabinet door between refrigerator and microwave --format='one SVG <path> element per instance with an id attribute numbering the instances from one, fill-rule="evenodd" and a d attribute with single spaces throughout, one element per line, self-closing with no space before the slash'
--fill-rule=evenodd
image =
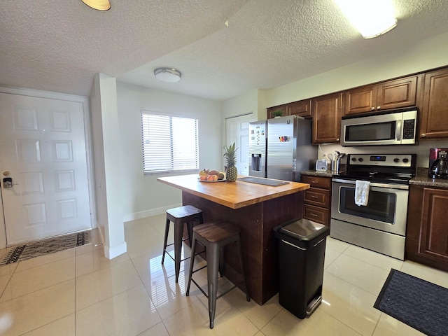
<path id="1" fill-rule="evenodd" d="M 342 92 L 313 99 L 313 144 L 339 142 Z"/>

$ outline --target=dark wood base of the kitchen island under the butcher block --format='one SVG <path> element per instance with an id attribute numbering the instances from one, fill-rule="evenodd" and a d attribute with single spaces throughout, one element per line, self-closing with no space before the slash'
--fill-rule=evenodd
<path id="1" fill-rule="evenodd" d="M 205 222 L 225 220 L 241 229 L 249 295 L 258 304 L 264 304 L 278 292 L 278 254 L 272 229 L 291 218 L 302 218 L 303 200 L 304 193 L 300 192 L 230 209 L 186 191 L 182 192 L 183 205 L 190 204 L 202 209 Z M 232 283 L 241 281 L 236 246 L 228 246 L 224 262 L 224 275 Z"/>

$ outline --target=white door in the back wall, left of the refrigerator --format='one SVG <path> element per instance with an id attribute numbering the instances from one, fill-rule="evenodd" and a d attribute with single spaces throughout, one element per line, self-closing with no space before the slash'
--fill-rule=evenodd
<path id="1" fill-rule="evenodd" d="M 255 121 L 253 113 L 225 120 L 225 143 L 229 146 L 235 142 L 237 151 L 237 169 L 239 175 L 249 174 L 249 123 Z"/>

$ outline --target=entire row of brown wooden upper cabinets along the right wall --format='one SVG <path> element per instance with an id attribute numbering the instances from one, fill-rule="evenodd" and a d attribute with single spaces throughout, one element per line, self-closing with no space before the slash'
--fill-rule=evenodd
<path id="1" fill-rule="evenodd" d="M 448 67 L 267 109 L 313 119 L 313 143 L 337 143 L 342 116 L 419 107 L 419 139 L 448 138 Z"/>

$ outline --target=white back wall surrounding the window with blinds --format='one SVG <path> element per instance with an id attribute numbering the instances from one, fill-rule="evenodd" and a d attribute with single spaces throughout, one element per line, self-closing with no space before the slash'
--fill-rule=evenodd
<path id="1" fill-rule="evenodd" d="M 125 221 L 162 214 L 181 204 L 181 190 L 144 175 L 141 148 L 141 110 L 172 113 L 199 120 L 200 169 L 221 167 L 221 103 L 117 83 L 120 127 L 120 196 Z"/>

